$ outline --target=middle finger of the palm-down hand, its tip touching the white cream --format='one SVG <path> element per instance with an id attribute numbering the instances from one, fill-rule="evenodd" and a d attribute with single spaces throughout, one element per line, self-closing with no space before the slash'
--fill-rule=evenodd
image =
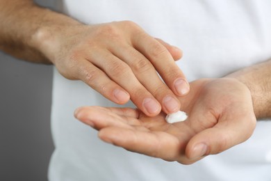
<path id="1" fill-rule="evenodd" d="M 122 49 L 125 49 L 125 51 Z M 156 100 L 161 103 L 165 113 L 174 113 L 180 110 L 179 100 L 170 88 L 163 83 L 160 77 L 158 77 L 154 66 L 151 65 L 145 56 L 131 46 L 122 47 L 120 45 L 120 47 L 113 49 L 113 52 L 129 65 L 142 86 L 147 88 L 149 93 L 154 95 Z M 132 97 L 132 93 L 130 94 Z"/>

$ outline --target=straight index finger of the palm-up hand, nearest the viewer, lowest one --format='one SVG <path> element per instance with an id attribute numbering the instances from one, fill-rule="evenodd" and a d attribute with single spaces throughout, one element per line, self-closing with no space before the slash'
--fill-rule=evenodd
<path id="1" fill-rule="evenodd" d="M 179 140 L 165 132 L 146 132 L 120 127 L 101 129 L 99 138 L 132 152 L 174 161 L 179 156 Z"/>

